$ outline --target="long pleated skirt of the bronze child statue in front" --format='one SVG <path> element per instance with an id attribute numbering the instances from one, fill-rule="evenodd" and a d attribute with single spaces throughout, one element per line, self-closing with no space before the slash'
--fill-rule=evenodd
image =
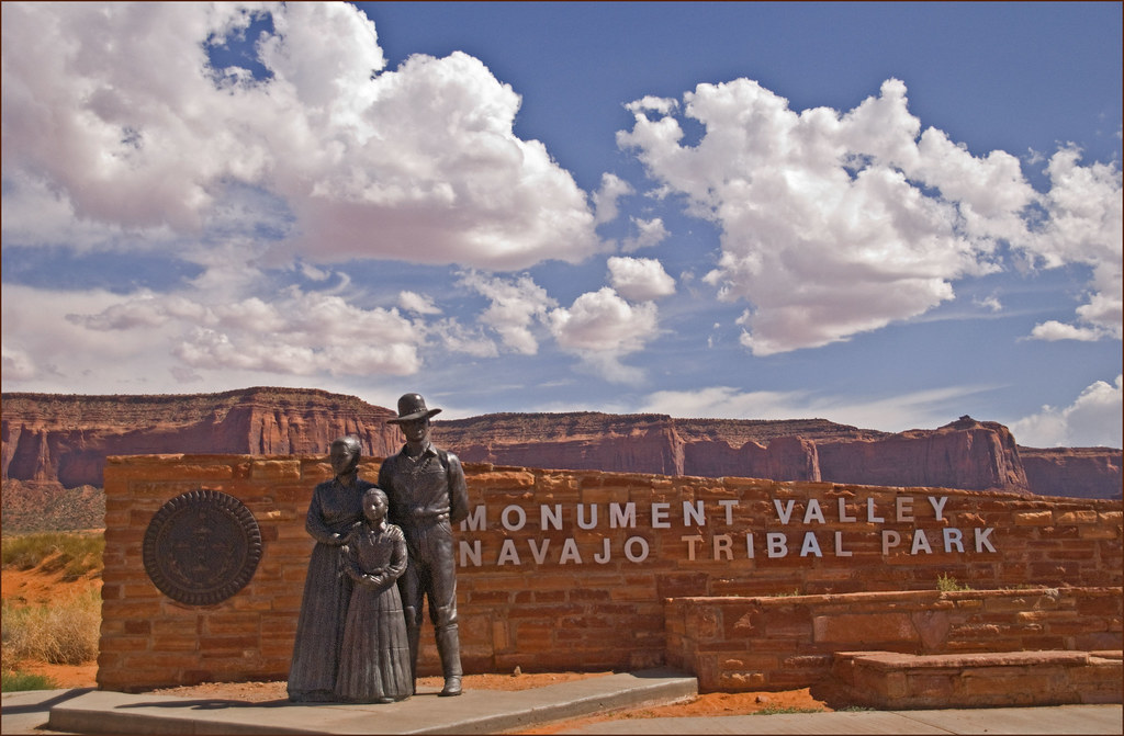
<path id="1" fill-rule="evenodd" d="M 336 697 L 350 702 L 401 700 L 414 692 L 406 616 L 398 585 L 356 583 L 347 607 L 347 625 Z"/>

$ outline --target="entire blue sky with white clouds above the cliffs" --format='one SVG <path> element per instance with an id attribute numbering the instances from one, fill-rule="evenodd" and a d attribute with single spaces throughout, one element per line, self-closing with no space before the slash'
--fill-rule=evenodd
<path id="1" fill-rule="evenodd" d="M 4 391 L 1120 447 L 1120 3 L 2 4 Z"/>

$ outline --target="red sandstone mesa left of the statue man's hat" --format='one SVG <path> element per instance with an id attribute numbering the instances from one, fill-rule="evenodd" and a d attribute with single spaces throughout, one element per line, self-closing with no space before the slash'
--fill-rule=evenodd
<path id="1" fill-rule="evenodd" d="M 9 393 L 0 421 L 4 480 L 101 485 L 108 455 L 314 454 L 357 435 L 368 455 L 396 452 L 389 409 L 312 389 L 183 396 Z"/>

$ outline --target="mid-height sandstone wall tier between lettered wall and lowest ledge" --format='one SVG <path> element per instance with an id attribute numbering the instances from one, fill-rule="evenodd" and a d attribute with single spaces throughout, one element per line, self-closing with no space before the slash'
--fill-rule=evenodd
<path id="1" fill-rule="evenodd" d="M 1122 647 L 1122 590 L 906 591 L 667 601 L 668 664 L 699 692 L 807 688 L 836 652 L 964 654 Z"/>

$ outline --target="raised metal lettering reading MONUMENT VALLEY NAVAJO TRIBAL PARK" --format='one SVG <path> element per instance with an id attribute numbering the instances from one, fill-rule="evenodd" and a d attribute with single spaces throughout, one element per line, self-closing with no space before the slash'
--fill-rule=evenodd
<path id="1" fill-rule="evenodd" d="M 834 517 L 841 524 L 886 524 L 887 517 L 897 524 L 908 524 L 916 521 L 918 516 L 930 516 L 935 521 L 942 521 L 944 517 L 944 506 L 948 497 L 926 496 L 917 506 L 914 505 L 914 497 L 898 496 L 891 508 L 877 509 L 874 499 L 865 499 L 864 505 L 858 508 L 865 512 L 851 512 L 847 510 L 845 498 L 833 501 L 821 502 L 818 499 L 809 499 L 805 508 L 803 518 L 794 518 L 796 501 L 771 499 L 777 520 L 781 526 L 800 521 L 805 526 L 814 524 L 827 524 L 827 515 Z M 651 529 L 671 529 L 674 524 L 681 524 L 685 530 L 701 531 L 708 524 L 708 511 L 724 519 L 725 526 L 734 524 L 734 511 L 741 503 L 736 499 L 720 499 L 708 505 L 704 501 L 683 501 L 681 512 L 677 505 L 667 502 L 652 502 L 650 507 Z M 520 531 L 524 529 L 541 531 L 562 531 L 568 525 L 575 524 L 583 531 L 596 529 L 637 529 L 636 503 L 608 503 L 604 507 L 599 503 L 578 503 L 563 512 L 563 505 L 540 505 L 537 525 L 534 519 L 528 519 L 527 511 L 522 506 L 510 505 L 504 507 L 497 521 L 508 531 Z M 672 516 L 674 515 L 674 519 Z M 473 508 L 468 519 L 461 523 L 461 531 L 481 531 L 488 528 L 490 523 L 487 506 Z M 570 526 L 569 528 L 572 528 Z M 944 553 L 995 553 L 996 548 L 991 544 L 991 527 L 971 527 L 960 529 L 957 527 L 944 527 L 937 530 L 931 529 L 926 533 L 921 528 L 913 528 L 903 534 L 897 529 L 881 529 L 881 552 L 882 556 L 891 551 L 908 551 L 910 555 Z M 850 557 L 852 551 L 847 549 L 846 539 L 842 530 L 834 530 L 827 544 L 821 543 L 821 537 L 814 530 L 804 533 L 760 530 L 746 531 L 744 529 L 713 534 L 709 544 L 703 534 L 685 534 L 680 537 L 682 543 L 682 556 L 695 561 L 710 557 L 713 560 L 734 560 L 736 556 L 747 558 L 765 557 L 780 558 L 790 554 L 800 557 L 823 557 L 825 554 L 834 557 Z M 566 537 L 561 545 L 552 544 L 551 539 L 527 538 L 523 544 L 517 544 L 515 539 L 504 539 L 498 549 L 487 551 L 481 546 L 480 539 L 460 542 L 460 566 L 480 567 L 486 563 L 500 565 L 522 565 L 524 560 L 533 560 L 535 564 L 554 563 L 559 565 L 589 564 L 590 561 L 597 564 L 606 564 L 613 560 L 613 555 L 624 555 L 632 563 L 642 563 L 647 560 L 650 543 L 643 536 L 633 535 L 624 537 L 615 534 L 611 537 L 602 537 L 599 546 L 579 546 L 574 537 Z"/>

